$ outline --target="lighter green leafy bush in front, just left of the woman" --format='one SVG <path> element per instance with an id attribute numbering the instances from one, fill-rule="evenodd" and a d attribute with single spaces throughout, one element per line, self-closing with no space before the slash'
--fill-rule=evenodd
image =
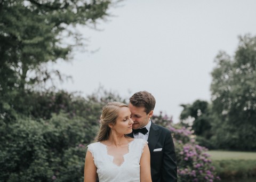
<path id="1" fill-rule="evenodd" d="M 2 181 L 83 180 L 84 146 L 94 139 L 98 127 L 60 114 L 50 120 L 20 119 L 5 129 Z"/>

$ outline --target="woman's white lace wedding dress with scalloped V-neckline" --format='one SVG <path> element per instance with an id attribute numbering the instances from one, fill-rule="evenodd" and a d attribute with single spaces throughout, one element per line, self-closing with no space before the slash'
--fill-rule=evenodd
<path id="1" fill-rule="evenodd" d="M 97 142 L 88 145 L 92 153 L 94 164 L 100 182 L 139 182 L 140 181 L 140 157 L 144 146 L 148 142 L 143 139 L 134 139 L 128 145 L 128 153 L 123 155 L 124 162 L 117 166 L 113 163 L 114 157 L 108 155 L 107 146 Z"/>

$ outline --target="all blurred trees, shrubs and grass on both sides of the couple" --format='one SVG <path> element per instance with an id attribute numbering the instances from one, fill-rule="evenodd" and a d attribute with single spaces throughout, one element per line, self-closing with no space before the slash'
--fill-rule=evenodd
<path id="1" fill-rule="evenodd" d="M 70 60 L 82 45 L 76 24 L 94 26 L 116 3 L 0 1 L 0 181 L 83 180 L 86 145 L 97 133 L 102 106 L 127 98 L 102 87 L 86 97 L 46 89 L 46 81 L 65 76 L 45 63 Z M 182 104 L 175 125 L 167 115 L 154 115 L 173 131 L 179 181 L 256 176 L 255 67 L 256 37 L 240 36 L 234 55 L 215 57 L 211 102 Z"/>

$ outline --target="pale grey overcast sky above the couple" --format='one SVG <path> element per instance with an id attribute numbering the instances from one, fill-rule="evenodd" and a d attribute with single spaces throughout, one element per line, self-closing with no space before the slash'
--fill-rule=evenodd
<path id="1" fill-rule="evenodd" d="M 102 85 L 124 98 L 147 90 L 155 113 L 179 121 L 180 104 L 210 101 L 211 71 L 219 51 L 234 55 L 238 35 L 256 35 L 256 1 L 127 0 L 95 31 L 81 31 L 94 54 L 74 52 L 56 67 L 73 77 L 59 86 L 92 94 Z"/>

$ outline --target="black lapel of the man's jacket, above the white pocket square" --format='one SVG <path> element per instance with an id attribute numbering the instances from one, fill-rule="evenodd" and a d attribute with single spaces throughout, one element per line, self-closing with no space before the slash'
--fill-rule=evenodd
<path id="1" fill-rule="evenodd" d="M 148 136 L 148 147 L 149 147 L 150 153 L 154 151 L 154 148 L 160 137 L 160 134 L 161 134 L 161 130 L 159 130 L 158 127 L 153 122 L 151 122 L 149 136 Z"/>

